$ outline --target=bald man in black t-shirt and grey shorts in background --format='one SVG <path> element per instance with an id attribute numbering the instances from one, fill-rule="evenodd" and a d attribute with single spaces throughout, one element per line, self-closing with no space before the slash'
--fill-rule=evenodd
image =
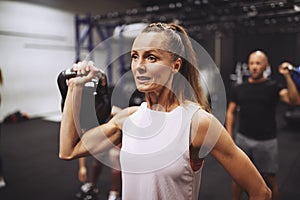
<path id="1" fill-rule="evenodd" d="M 244 83 L 233 88 L 226 114 L 226 128 L 233 136 L 236 111 L 239 108 L 238 132 L 236 144 L 250 157 L 272 190 L 272 199 L 278 199 L 278 142 L 276 137 L 275 112 L 279 100 L 287 104 L 297 104 L 299 93 L 287 66 L 279 66 L 286 80 L 287 87 L 276 81 L 266 79 L 263 75 L 269 66 L 266 54 L 254 51 L 249 55 L 248 67 L 250 77 Z M 242 194 L 235 182 L 232 183 L 233 199 L 239 200 Z"/>

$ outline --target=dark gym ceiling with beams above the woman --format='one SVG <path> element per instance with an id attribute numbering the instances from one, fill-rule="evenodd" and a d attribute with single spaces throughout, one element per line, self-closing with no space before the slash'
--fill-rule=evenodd
<path id="1" fill-rule="evenodd" d="M 91 14 L 94 17 L 104 15 L 100 16 L 102 20 L 107 17 L 108 20 L 126 21 L 127 23 L 145 20 L 170 22 L 176 19 L 182 22 L 190 34 L 195 33 L 199 37 L 201 37 L 199 34 L 201 32 L 214 33 L 215 31 L 229 34 L 300 32 L 300 0 L 19 1 L 44 5 L 75 14 Z M 138 10 L 138 14 L 133 12 L 133 14 L 128 15 L 125 12 L 136 10 Z"/>

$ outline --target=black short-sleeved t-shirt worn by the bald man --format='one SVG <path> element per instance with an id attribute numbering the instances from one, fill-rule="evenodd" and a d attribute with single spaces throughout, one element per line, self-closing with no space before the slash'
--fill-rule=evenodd
<path id="1" fill-rule="evenodd" d="M 276 106 L 283 89 L 276 81 L 244 82 L 234 87 L 230 101 L 239 106 L 239 133 L 256 140 L 276 137 Z"/>

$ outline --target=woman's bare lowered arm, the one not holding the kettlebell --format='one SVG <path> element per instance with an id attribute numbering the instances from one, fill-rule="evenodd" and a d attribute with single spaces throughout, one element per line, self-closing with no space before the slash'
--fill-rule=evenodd
<path id="1" fill-rule="evenodd" d="M 249 199 L 271 199 L 271 190 L 262 176 L 248 156 L 235 145 L 223 125 L 211 114 L 202 113 L 199 116 L 197 133 L 192 140 L 193 146 L 200 148 L 199 157 L 203 158 L 208 153 L 201 155 L 201 149 L 208 149 L 231 177 L 247 191 Z"/>

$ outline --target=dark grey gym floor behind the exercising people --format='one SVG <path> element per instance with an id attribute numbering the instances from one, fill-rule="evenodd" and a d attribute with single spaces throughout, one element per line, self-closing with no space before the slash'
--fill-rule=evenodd
<path id="1" fill-rule="evenodd" d="M 278 183 L 280 199 L 300 198 L 300 128 L 281 127 Z M 79 191 L 78 161 L 58 158 L 59 122 L 45 119 L 2 124 L 1 149 L 7 186 L 1 200 L 74 200 Z M 90 162 L 91 159 L 89 159 Z M 208 156 L 202 172 L 200 198 L 229 200 L 231 178 L 217 161 Z M 107 199 L 109 168 L 104 167 L 98 183 L 99 200 Z M 244 199 L 247 199 L 246 197 Z"/>

